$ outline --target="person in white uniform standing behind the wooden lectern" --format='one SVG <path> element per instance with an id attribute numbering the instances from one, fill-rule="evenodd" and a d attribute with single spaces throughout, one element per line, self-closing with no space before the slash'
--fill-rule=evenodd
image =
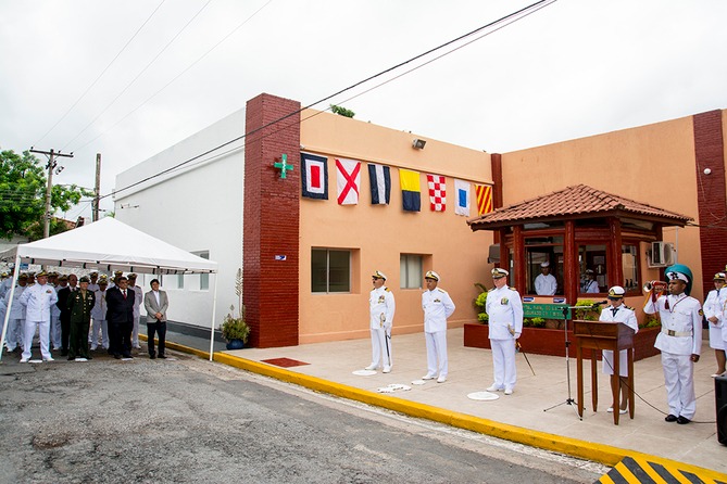
<path id="1" fill-rule="evenodd" d="M 634 330 L 634 334 L 639 332 L 639 322 L 636 320 L 636 314 L 634 309 L 624 305 L 624 294 L 626 291 L 621 285 L 614 285 L 609 290 L 609 303 L 610 306 L 604 307 L 601 310 L 601 316 L 599 321 L 606 322 L 623 322 L 627 327 Z M 626 413 L 626 408 L 628 407 L 628 382 L 626 377 L 628 377 L 628 353 L 631 349 L 622 349 L 618 352 L 618 378 L 621 378 L 621 405 L 618 407 L 618 412 L 624 415 Z M 614 381 L 616 378 L 613 374 L 613 352 L 611 349 L 603 349 L 603 373 L 610 374 L 611 380 Z M 613 383 L 612 383 L 613 384 Z M 614 402 L 614 405 L 616 403 Z M 612 405 L 607 411 L 616 411 Z"/>

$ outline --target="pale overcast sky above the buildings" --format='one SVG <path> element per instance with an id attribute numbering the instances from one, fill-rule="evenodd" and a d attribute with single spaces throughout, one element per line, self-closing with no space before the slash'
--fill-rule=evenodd
<path id="1" fill-rule="evenodd" d="M 534 1 L 0 0 L 0 149 L 74 152 L 54 182 L 87 188 L 101 153 L 106 194 L 261 92 L 311 104 Z M 499 153 L 725 109 L 726 20 L 725 0 L 559 0 L 315 107 Z"/>

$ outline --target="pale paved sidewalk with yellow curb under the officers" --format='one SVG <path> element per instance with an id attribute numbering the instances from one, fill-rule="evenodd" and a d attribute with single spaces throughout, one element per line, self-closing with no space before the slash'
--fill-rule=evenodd
<path id="1" fill-rule="evenodd" d="M 174 337 L 167 339 L 175 341 Z M 717 474 L 727 473 L 727 448 L 716 437 L 714 380 L 710 377 L 716 364 L 714 352 L 706 343 L 702 349 L 703 357 L 695 366 L 698 410 L 692 423 L 678 425 L 664 421 L 666 391 L 661 358 L 655 356 L 635 364 L 637 397 L 634 420 L 628 415 L 621 416 L 619 424 L 614 425 L 613 416 L 605 411 L 611 405 L 607 377 L 601 374 L 599 368 L 599 411 L 593 412 L 590 365 L 584 365 L 587 383 L 584 418 L 580 420 L 577 407 L 566 404 L 566 361 L 561 357 L 528 355 L 536 372 L 534 375 L 524 357 L 517 355 L 518 383 L 513 395 L 498 392 L 498 399 L 486 402 L 468 398 L 468 394 L 482 392 L 491 384 L 492 359 L 488 349 L 464 347 L 462 342 L 463 329 L 449 330 L 448 381 L 428 381 L 424 385 L 412 384 L 426 373 L 423 334 L 393 336 L 393 370 L 388 374 L 380 371 L 371 377 L 353 374 L 354 370 L 361 370 L 371 362 L 368 340 L 225 351 L 216 353 L 215 360 L 414 416 L 438 420 L 437 413 L 449 412 L 447 419 L 475 422 L 460 426 L 474 426 L 473 430 L 611 466 L 616 463 L 611 461 L 615 456 L 634 454 L 645 459 L 653 456 L 716 471 L 706 477 L 727 481 L 727 475 Z M 209 340 L 206 347 L 204 344 L 197 346 L 208 352 Z M 275 361 L 278 358 L 293 361 Z M 305 365 L 281 368 L 296 361 Z M 571 396 L 576 398 L 575 355 L 571 357 L 569 367 Z M 378 393 L 378 389 L 389 384 L 403 384 L 411 390 Z M 406 406 L 413 410 L 409 411 Z"/>

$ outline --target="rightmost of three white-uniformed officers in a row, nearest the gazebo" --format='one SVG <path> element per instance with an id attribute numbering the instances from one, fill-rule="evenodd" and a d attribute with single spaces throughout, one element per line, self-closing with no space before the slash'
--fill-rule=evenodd
<path id="1" fill-rule="evenodd" d="M 492 269 L 494 289 L 487 293 L 485 303 L 494 380 L 487 391 L 504 390 L 505 395 L 512 395 L 517 381 L 515 340 L 523 332 L 523 301 L 515 289 L 507 286 L 509 275 L 505 269 Z"/>

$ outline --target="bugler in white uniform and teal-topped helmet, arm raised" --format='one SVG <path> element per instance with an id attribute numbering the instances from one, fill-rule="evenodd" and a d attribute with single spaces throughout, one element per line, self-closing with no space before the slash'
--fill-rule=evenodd
<path id="1" fill-rule="evenodd" d="M 664 383 L 669 405 L 667 422 L 689 423 L 697 411 L 694 364 L 702 349 L 702 306 L 691 297 L 692 275 L 689 267 L 675 264 L 665 270 L 668 295 L 657 298 L 647 294 L 643 311 L 659 311 L 662 332 L 654 346 L 662 352 Z"/>

